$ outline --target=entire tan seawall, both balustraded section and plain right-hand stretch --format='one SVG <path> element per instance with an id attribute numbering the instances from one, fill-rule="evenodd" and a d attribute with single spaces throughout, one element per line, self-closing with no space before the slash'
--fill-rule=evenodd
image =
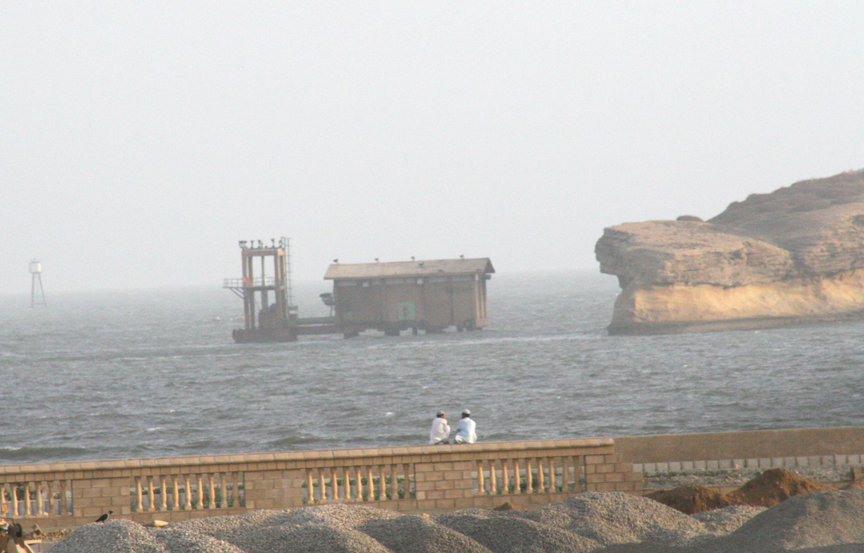
<path id="1" fill-rule="evenodd" d="M 0 512 L 45 530 L 346 503 L 401 512 L 642 494 L 652 473 L 860 467 L 864 427 L 0 465 Z"/>

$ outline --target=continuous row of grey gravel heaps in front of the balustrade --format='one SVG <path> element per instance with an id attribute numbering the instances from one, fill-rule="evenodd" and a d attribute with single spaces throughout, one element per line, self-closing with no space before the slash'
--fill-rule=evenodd
<path id="1" fill-rule="evenodd" d="M 49 553 L 864 552 L 864 490 L 802 494 L 771 509 L 685 515 L 644 497 L 587 493 L 537 511 L 437 516 L 325 505 L 145 528 L 87 524 Z"/>

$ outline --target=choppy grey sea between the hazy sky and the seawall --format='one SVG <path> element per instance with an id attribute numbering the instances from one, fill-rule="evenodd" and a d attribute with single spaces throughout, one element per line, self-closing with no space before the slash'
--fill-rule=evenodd
<path id="1" fill-rule="evenodd" d="M 617 292 L 499 274 L 480 332 L 261 345 L 216 288 L 0 297 L 0 462 L 419 445 L 465 407 L 481 441 L 864 424 L 864 322 L 611 337 Z"/>

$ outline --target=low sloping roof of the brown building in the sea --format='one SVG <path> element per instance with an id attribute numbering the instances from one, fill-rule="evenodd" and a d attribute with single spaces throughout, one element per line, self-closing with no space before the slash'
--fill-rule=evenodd
<path id="1" fill-rule="evenodd" d="M 436 275 L 473 275 L 494 273 L 488 257 L 475 259 L 426 259 L 386 263 L 334 263 L 325 280 L 360 280 L 368 278 L 421 277 Z"/>

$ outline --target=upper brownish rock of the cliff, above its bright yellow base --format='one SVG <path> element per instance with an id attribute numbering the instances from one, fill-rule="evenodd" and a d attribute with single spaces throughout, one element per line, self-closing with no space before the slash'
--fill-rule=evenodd
<path id="1" fill-rule="evenodd" d="M 625 223 L 595 247 L 622 288 L 741 286 L 864 268 L 864 170 L 801 181 L 733 202 L 707 222 Z"/>

